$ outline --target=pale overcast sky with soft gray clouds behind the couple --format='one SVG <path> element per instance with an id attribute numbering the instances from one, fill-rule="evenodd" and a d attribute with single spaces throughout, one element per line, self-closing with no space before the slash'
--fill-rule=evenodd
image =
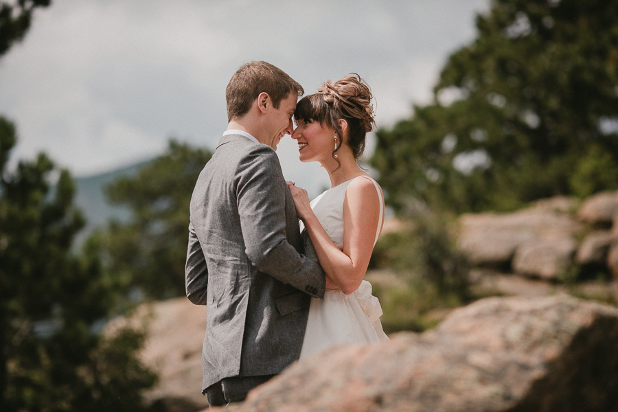
<path id="1" fill-rule="evenodd" d="M 359 73 L 378 126 L 426 103 L 447 56 L 472 41 L 488 0 L 53 0 L 0 60 L 0 113 L 16 159 L 41 150 L 73 174 L 161 153 L 170 137 L 214 148 L 227 127 L 225 86 L 266 60 L 314 93 Z M 290 180 L 328 181 L 277 150 Z M 317 176 L 319 175 L 319 176 Z"/>

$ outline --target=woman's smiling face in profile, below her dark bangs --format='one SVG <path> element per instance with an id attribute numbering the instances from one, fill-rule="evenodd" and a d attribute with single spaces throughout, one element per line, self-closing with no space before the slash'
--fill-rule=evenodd
<path id="1" fill-rule="evenodd" d="M 304 162 L 319 161 L 324 163 L 332 159 L 335 141 L 334 130 L 328 126 L 322 126 L 320 122 L 307 119 L 298 119 L 296 128 L 292 133 L 292 139 L 298 142 L 300 160 Z M 339 137 L 337 144 L 339 144 Z"/>

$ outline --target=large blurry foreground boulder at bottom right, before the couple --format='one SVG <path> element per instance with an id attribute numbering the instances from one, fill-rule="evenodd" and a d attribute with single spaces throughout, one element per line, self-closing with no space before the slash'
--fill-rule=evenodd
<path id="1" fill-rule="evenodd" d="M 290 366 L 233 411 L 616 411 L 618 308 L 489 298 L 435 330 Z"/>

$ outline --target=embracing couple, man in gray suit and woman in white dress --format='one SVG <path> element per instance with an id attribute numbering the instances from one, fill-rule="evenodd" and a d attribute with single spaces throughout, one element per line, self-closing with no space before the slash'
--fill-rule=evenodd
<path id="1" fill-rule="evenodd" d="M 266 62 L 240 67 L 225 93 L 227 131 L 193 192 L 185 281 L 190 301 L 207 305 L 212 406 L 244 400 L 326 347 L 388 339 L 363 280 L 384 216 L 378 183 L 356 163 L 374 126 L 371 92 L 349 75 L 297 103 L 303 93 Z M 284 135 L 330 176 L 311 203 L 284 180 L 275 154 Z"/>

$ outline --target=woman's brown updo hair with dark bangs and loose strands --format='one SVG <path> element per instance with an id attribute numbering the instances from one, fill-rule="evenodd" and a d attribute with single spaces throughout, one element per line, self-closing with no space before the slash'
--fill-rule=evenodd
<path id="1" fill-rule="evenodd" d="M 343 130 L 339 120 L 347 122 L 348 138 L 345 143 L 352 148 L 354 159 L 365 151 L 365 136 L 376 126 L 374 106 L 371 105 L 371 89 L 365 80 L 356 73 L 348 73 L 345 78 L 324 82 L 317 93 L 305 96 L 296 105 L 296 119 L 313 120 L 333 128 L 343 142 Z M 332 155 L 341 148 L 333 150 Z M 339 163 L 339 159 L 334 159 Z M 341 165 L 341 163 L 339 163 Z"/>

